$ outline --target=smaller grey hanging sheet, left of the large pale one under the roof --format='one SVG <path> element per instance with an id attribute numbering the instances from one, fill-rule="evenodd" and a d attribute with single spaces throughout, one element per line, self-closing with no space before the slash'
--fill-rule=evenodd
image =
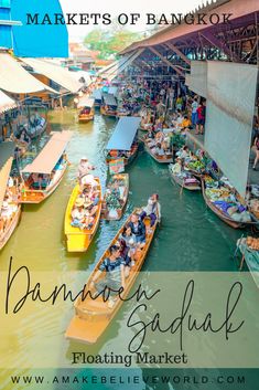
<path id="1" fill-rule="evenodd" d="M 185 84 L 195 94 L 207 96 L 207 62 L 191 61 L 191 74 L 186 75 Z"/>

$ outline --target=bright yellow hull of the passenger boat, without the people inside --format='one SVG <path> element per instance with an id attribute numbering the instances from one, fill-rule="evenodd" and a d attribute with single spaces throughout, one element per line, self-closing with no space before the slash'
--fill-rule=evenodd
<path id="1" fill-rule="evenodd" d="M 100 181 L 98 178 L 95 178 L 98 182 L 98 190 L 101 191 Z M 80 193 L 79 185 L 76 185 L 72 191 L 71 198 L 67 203 L 66 214 L 65 214 L 65 235 L 67 239 L 67 251 L 68 252 L 86 252 L 89 247 L 95 233 L 99 225 L 100 211 L 101 211 L 101 192 L 98 203 L 98 209 L 95 217 L 95 222 L 91 229 L 83 229 L 72 226 L 72 210 L 74 208 L 75 201 Z"/>

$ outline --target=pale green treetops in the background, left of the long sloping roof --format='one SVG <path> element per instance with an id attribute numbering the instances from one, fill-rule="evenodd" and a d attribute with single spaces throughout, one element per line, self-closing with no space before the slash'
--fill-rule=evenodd
<path id="1" fill-rule="evenodd" d="M 112 32 L 95 29 L 86 35 L 84 42 L 89 50 L 100 52 L 99 59 L 107 60 L 139 39 L 141 39 L 139 33 L 125 29 L 115 29 Z"/>

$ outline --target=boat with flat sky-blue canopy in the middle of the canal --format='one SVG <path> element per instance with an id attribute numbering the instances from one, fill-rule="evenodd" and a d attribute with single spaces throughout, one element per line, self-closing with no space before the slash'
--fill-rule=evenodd
<path id="1" fill-rule="evenodd" d="M 123 159 L 123 164 L 127 166 L 134 159 L 139 146 L 136 140 L 139 124 L 140 117 L 137 116 L 127 116 L 119 119 L 106 147 L 106 150 L 108 150 L 107 164 Z"/>

